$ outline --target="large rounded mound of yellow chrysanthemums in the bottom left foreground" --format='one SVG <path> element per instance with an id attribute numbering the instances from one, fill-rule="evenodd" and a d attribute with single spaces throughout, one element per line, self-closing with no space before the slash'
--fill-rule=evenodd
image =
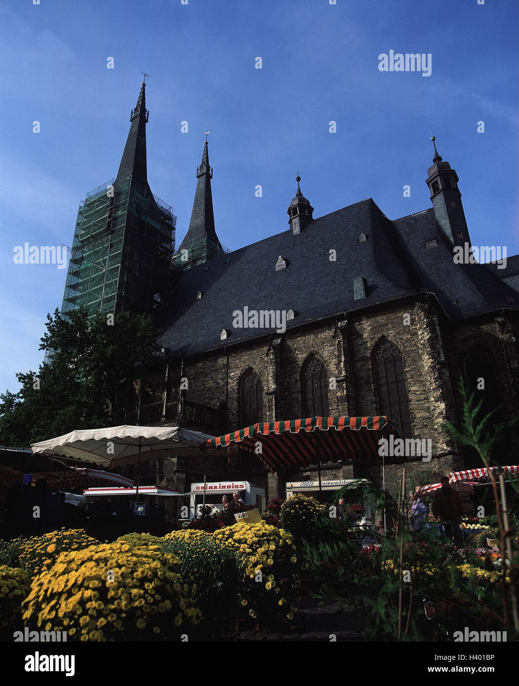
<path id="1" fill-rule="evenodd" d="M 60 554 L 32 582 L 23 619 L 69 640 L 178 640 L 179 627 L 197 624 L 193 589 L 178 558 L 148 545 L 93 545 Z M 185 632 L 185 629 L 183 629 Z"/>

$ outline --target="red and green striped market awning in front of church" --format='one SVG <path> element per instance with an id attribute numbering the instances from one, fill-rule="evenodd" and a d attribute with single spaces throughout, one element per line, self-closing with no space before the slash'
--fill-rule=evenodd
<path id="1" fill-rule="evenodd" d="M 379 440 L 398 436 L 397 425 L 386 416 L 309 417 L 262 422 L 205 441 L 203 450 L 240 444 L 268 464 L 272 471 L 299 469 L 317 462 L 378 462 Z M 259 446 L 257 444 L 260 444 Z M 403 458 L 386 458 L 401 462 Z"/>

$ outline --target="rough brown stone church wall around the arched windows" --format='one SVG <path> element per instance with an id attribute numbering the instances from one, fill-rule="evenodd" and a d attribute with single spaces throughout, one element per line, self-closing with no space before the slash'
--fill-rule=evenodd
<path id="1" fill-rule="evenodd" d="M 450 421 L 456 425 L 460 416 L 461 397 L 457 384 L 463 372 L 465 355 L 473 341 L 485 344 L 494 355 L 505 407 L 501 418 L 509 421 L 517 416 L 518 327 L 516 320 L 507 318 L 446 325 L 432 298 L 399 301 L 392 307 L 386 305 L 350 314 L 347 320 L 311 324 L 282 336 L 274 334 L 248 342 L 239 348 L 229 346 L 227 350 L 188 357 L 183 361 L 183 367 L 179 360 L 170 362 L 168 401 L 177 399 L 180 379 L 184 377 L 188 384 L 183 392 L 186 401 L 213 410 L 220 407 L 217 427 L 189 425 L 190 428 L 214 435 L 239 429 L 242 427 L 238 398 L 240 381 L 244 373 L 253 368 L 262 381 L 263 420 L 299 418 L 303 412 L 301 368 L 308 355 L 314 353 L 327 370 L 330 414 L 380 414 L 372 355 L 378 342 L 387 338 L 402 353 L 413 436 L 432 441 L 433 457 L 430 462 L 408 463 L 408 484 L 413 479 L 424 483 L 433 474 L 443 475 L 463 469 L 461 452 L 441 423 Z M 161 379 L 164 379 L 163 368 L 154 372 L 154 379 L 148 379 L 146 388 L 157 388 Z M 516 460 L 510 445 L 508 449 L 501 447 L 500 455 L 502 463 L 508 460 L 511 464 Z M 193 463 L 191 471 L 199 476 L 200 469 L 194 468 Z M 366 469 L 365 466 L 354 465 L 355 476 L 364 475 Z M 181 486 L 187 488 L 189 484 L 181 483 L 185 478 L 185 466 L 181 469 L 175 467 L 174 471 L 184 475 L 176 475 L 174 487 L 179 490 Z M 380 465 L 371 466 L 368 471 L 374 480 L 382 482 Z M 303 470 L 302 473 L 316 477 L 316 471 Z M 402 466 L 387 466 L 387 488 L 396 494 L 401 473 Z M 268 484 L 268 498 L 283 495 L 286 480 L 297 480 L 294 473 L 267 473 L 260 460 L 253 458 L 252 462 L 246 462 L 243 456 L 211 465 L 208 479 L 221 479 L 232 474 L 255 483 L 262 480 Z M 169 487 L 172 483 L 170 475 Z"/>

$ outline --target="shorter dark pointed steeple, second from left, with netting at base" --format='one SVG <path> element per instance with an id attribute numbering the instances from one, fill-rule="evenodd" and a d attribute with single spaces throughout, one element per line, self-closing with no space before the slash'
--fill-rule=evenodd
<path id="1" fill-rule="evenodd" d="M 189 259 L 186 258 L 183 262 L 189 261 L 190 265 L 196 262 L 205 262 L 206 259 L 218 257 L 224 252 L 214 228 L 213 196 L 211 194 L 213 169 L 209 167 L 207 139 L 204 143 L 202 162 L 200 167 L 196 169 L 196 178 L 198 178 L 198 182 L 189 229 L 177 251 L 179 254 L 184 250 L 184 257 L 185 251 L 189 252 Z M 187 264 L 185 265 L 187 266 Z"/>

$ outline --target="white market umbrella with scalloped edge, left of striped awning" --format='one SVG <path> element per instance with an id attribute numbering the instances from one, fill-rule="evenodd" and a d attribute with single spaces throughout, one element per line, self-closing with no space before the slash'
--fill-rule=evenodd
<path id="1" fill-rule="evenodd" d="M 80 429 L 58 438 L 31 445 L 33 453 L 65 455 L 76 460 L 102 464 L 110 469 L 137 464 L 137 495 L 141 460 L 158 457 L 203 455 L 200 445 L 214 436 L 181 427 L 119 426 Z"/>

